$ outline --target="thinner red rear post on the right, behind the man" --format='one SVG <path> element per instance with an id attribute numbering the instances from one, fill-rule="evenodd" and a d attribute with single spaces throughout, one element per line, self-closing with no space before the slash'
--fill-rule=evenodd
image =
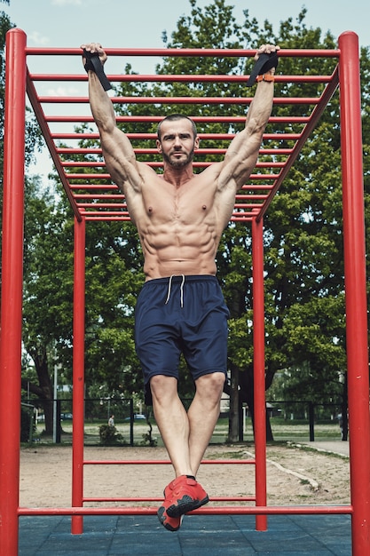
<path id="1" fill-rule="evenodd" d="M 254 428 L 256 505 L 266 505 L 266 400 L 264 378 L 264 222 L 252 220 Z M 256 515 L 256 530 L 265 531 L 267 516 Z"/>

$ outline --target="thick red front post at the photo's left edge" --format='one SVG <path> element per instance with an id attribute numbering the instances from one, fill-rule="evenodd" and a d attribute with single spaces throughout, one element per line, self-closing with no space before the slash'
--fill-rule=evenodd
<path id="1" fill-rule="evenodd" d="M 26 35 L 6 35 L 0 346 L 0 554 L 18 554 Z M 9 426 L 12 423 L 12 426 Z"/>

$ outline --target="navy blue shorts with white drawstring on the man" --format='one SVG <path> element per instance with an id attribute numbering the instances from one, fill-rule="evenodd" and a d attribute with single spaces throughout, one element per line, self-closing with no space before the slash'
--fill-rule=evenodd
<path id="1" fill-rule="evenodd" d="M 212 372 L 226 373 L 228 318 L 216 276 L 172 276 L 146 282 L 135 310 L 135 344 L 146 394 L 155 375 L 178 380 L 181 353 L 193 380 Z"/>

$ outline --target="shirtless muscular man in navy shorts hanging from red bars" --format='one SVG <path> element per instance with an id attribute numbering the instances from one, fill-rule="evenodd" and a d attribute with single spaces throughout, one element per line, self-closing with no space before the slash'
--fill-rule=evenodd
<path id="1" fill-rule="evenodd" d="M 82 48 L 105 63 L 100 44 Z M 256 60 L 278 49 L 264 44 Z M 176 475 L 158 510 L 170 531 L 180 527 L 186 512 L 209 501 L 195 476 L 219 416 L 227 366 L 228 309 L 216 280 L 216 251 L 235 194 L 256 165 L 272 111 L 274 71 L 268 70 L 257 84 L 245 128 L 232 139 L 224 161 L 200 174 L 193 173 L 199 147 L 193 121 L 184 115 L 162 120 L 156 144 L 164 171 L 158 175 L 138 162 L 130 140 L 116 126 L 111 99 L 96 73 L 88 70 L 91 112 L 106 169 L 126 196 L 144 253 L 146 282 L 136 307 L 135 339 L 146 393 L 152 396 L 155 421 Z M 187 412 L 177 395 L 181 352 L 195 384 Z"/>

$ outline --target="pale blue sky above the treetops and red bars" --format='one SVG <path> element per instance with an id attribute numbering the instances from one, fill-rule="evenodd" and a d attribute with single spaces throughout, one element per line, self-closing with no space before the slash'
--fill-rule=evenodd
<path id="1" fill-rule="evenodd" d="M 212 4 L 212 0 L 197 0 L 198 7 Z M 234 6 L 233 15 L 237 22 L 244 20 L 243 10 L 248 9 L 249 17 L 255 17 L 262 26 L 268 20 L 278 32 L 279 22 L 291 17 L 296 20 L 303 6 L 307 9 L 304 24 L 307 28 L 329 30 L 335 37 L 344 31 L 358 34 L 361 46 L 370 46 L 370 3 L 368 0 L 264 0 L 248 5 L 246 0 L 226 0 Z M 129 7 L 128 7 L 129 6 Z M 190 15 L 188 0 L 10 0 L 10 5 L 0 1 L 0 10 L 7 13 L 10 20 L 27 35 L 30 47 L 78 48 L 83 43 L 98 42 L 106 48 L 163 48 L 162 33 L 167 35 L 177 28 L 182 15 Z M 248 45 L 249 46 L 249 45 Z M 251 44 L 250 48 L 256 48 Z M 35 57 L 32 72 L 43 73 L 38 63 L 47 63 L 48 57 Z M 35 60 L 35 61 L 34 61 Z M 151 59 L 153 67 L 135 58 L 127 60 L 138 73 L 151 73 L 159 60 Z M 108 62 L 114 62 L 114 59 Z M 80 62 L 76 59 L 75 64 Z M 107 62 L 107 63 L 108 63 Z M 82 66 L 60 68 L 60 73 L 78 73 Z M 107 73 L 109 69 L 106 68 Z M 111 73 L 115 69 L 110 67 Z M 30 173 L 47 175 L 51 171 L 48 155 L 38 156 L 35 169 Z M 40 167 L 40 165 L 42 167 Z M 49 167 L 47 167 L 49 166 Z"/>

